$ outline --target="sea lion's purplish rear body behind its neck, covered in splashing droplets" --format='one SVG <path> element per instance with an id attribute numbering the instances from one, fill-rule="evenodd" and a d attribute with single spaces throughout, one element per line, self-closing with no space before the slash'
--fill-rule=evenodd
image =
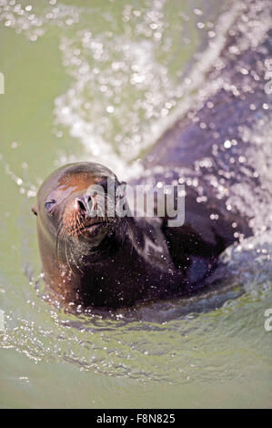
<path id="1" fill-rule="evenodd" d="M 141 182 L 185 184 L 184 225 L 162 229 L 176 269 L 187 273 L 190 266 L 199 270 L 205 255 L 216 261 L 235 241 L 271 229 L 270 6 L 240 5 L 195 106 L 144 159 Z"/>

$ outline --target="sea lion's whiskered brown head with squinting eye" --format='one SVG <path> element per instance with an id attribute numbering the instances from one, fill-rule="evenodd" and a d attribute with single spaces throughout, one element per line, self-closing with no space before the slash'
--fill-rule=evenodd
<path id="1" fill-rule="evenodd" d="M 97 163 L 80 162 L 55 170 L 39 189 L 32 209 L 41 252 L 55 248 L 57 258 L 71 254 L 78 264 L 83 255 L 108 250 L 111 239 L 124 233 L 126 221 L 116 213 L 116 200 L 124 199 L 124 189 L 125 183 Z"/>

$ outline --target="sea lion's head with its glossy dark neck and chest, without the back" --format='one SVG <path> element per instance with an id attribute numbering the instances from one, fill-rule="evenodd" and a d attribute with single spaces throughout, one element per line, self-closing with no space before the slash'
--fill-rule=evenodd
<path id="1" fill-rule="evenodd" d="M 136 301 L 165 298 L 176 292 L 178 275 L 157 221 L 134 217 L 91 216 L 99 209 L 94 185 L 108 179 L 120 186 L 108 168 L 80 162 L 57 169 L 37 195 L 38 241 L 45 283 L 65 303 L 116 308 Z M 93 189 L 93 188 L 92 188 Z"/>

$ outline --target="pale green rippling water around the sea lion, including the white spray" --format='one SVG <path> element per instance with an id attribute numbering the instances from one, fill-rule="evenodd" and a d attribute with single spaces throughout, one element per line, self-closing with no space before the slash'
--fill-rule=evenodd
<path id="1" fill-rule="evenodd" d="M 182 107 L 186 66 L 228 3 L 20 5 L 0 1 L 0 405 L 271 407 L 266 239 L 253 241 L 230 290 L 117 317 L 67 315 L 35 286 L 41 267 L 30 209 L 41 181 L 70 160 L 99 158 L 123 177 L 136 172 L 130 162 Z"/>

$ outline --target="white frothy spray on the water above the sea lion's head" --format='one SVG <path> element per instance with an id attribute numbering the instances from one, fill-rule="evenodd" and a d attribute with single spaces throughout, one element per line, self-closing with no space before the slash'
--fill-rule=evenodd
<path id="1" fill-rule="evenodd" d="M 127 168 L 127 163 L 151 147 L 188 107 L 185 95 L 202 84 L 241 9 L 231 5 L 217 23 L 227 3 L 209 2 L 203 9 L 195 3 L 120 2 L 112 16 L 106 5 L 76 7 L 52 0 L 23 6 L 2 0 L 0 21 L 34 42 L 52 26 L 58 28 L 71 84 L 55 99 L 54 132 L 61 138 L 67 128 L 83 144 L 86 157 L 128 178 L 140 166 L 134 162 Z M 92 21 L 89 26 L 90 15 L 97 16 L 99 25 Z M 196 55 L 198 37 L 203 46 L 213 41 L 201 56 Z M 60 162 L 69 160 L 63 156 Z"/>

